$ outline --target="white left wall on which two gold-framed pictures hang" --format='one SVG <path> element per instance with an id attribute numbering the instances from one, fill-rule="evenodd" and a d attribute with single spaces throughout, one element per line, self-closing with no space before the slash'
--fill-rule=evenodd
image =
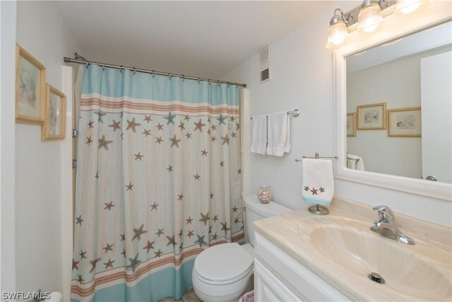
<path id="1" fill-rule="evenodd" d="M 61 91 L 63 57 L 79 50 L 54 2 L 18 1 L 16 41 Z M 42 142 L 40 131 L 16 124 L 16 289 L 25 292 L 61 291 L 61 202 L 72 203 L 61 201 L 62 143 Z"/>

